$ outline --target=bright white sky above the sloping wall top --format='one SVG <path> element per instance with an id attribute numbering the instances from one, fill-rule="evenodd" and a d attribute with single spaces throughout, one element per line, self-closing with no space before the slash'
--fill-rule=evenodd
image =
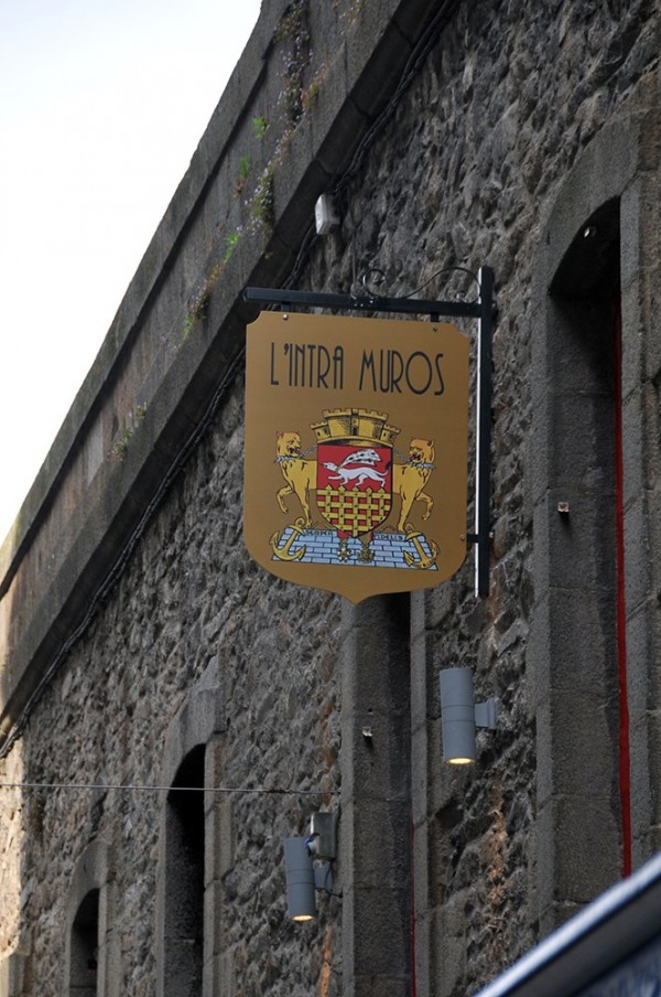
<path id="1" fill-rule="evenodd" d="M 0 544 L 260 0 L 0 0 Z"/>

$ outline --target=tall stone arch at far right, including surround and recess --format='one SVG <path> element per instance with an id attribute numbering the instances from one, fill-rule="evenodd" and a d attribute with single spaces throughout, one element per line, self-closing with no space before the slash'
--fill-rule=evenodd
<path id="1" fill-rule="evenodd" d="M 537 894 L 541 933 L 659 847 L 650 743 L 658 720 L 661 369 L 652 288 L 660 277 L 659 78 L 643 78 L 572 168 L 543 226 L 532 329 L 531 489 L 535 611 L 528 665 L 538 730 Z M 621 307 L 621 438 L 630 813 L 620 813 L 609 453 L 613 369 L 605 332 Z M 608 300 L 610 299 L 610 300 Z M 658 321 L 658 320 L 657 320 Z M 609 326 L 608 326 L 609 328 Z M 654 387 L 657 385 L 657 388 Z M 568 514 L 559 512 L 560 503 Z M 655 536 L 657 534 L 657 536 Z M 654 653 L 655 651 L 655 653 Z M 615 698 L 614 698 L 615 697 Z"/>

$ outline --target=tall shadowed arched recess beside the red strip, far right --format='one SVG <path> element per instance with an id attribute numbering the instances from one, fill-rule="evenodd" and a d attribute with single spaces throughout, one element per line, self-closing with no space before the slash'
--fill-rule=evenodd
<path id="1" fill-rule="evenodd" d="M 548 542 L 535 587 L 549 626 L 538 749 L 549 768 L 541 784 L 563 801 L 559 808 L 543 798 L 542 808 L 562 899 L 575 904 L 630 868 L 619 287 L 613 199 L 578 225 L 552 277 L 538 387 L 537 522 Z M 568 847 L 586 814 L 599 826 L 599 862 L 589 846 L 582 855 L 582 846 Z M 571 875 L 568 855 L 581 875 Z"/>

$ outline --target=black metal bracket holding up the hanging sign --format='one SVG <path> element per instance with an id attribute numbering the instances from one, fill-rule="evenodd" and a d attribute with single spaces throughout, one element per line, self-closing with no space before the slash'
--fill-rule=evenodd
<path id="1" fill-rule="evenodd" d="M 379 294 L 330 294 L 315 291 L 294 291 L 273 288 L 246 288 L 245 301 L 258 304 L 279 304 L 292 310 L 327 308 L 335 311 L 387 312 L 430 315 L 437 322 L 445 318 L 477 319 L 477 417 L 476 417 L 476 485 L 475 533 L 468 542 L 475 544 L 475 594 L 489 594 L 489 554 L 491 543 L 491 397 L 492 397 L 492 326 L 494 271 L 480 267 L 477 275 L 479 293 L 475 301 L 432 301 L 420 298 L 382 298 Z"/>

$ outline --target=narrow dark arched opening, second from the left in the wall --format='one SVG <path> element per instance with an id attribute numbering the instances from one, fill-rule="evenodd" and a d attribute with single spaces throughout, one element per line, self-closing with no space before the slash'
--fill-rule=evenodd
<path id="1" fill-rule="evenodd" d="M 201 997 L 204 958 L 205 746 L 188 752 L 167 794 L 165 997 Z M 199 792 L 197 792 L 199 791 Z"/>

